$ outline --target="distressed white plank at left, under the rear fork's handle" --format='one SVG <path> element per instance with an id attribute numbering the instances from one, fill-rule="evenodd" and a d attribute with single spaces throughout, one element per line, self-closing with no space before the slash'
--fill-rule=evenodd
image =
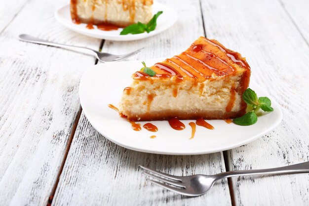
<path id="1" fill-rule="evenodd" d="M 0 35 L 0 205 L 46 205 L 79 111 L 78 83 L 95 58 L 17 40 L 20 32 L 98 49 L 54 19 L 67 0 L 32 0 Z"/>

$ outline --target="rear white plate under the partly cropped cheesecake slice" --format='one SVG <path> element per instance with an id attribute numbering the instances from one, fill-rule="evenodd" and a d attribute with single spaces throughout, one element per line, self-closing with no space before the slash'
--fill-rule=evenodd
<path id="1" fill-rule="evenodd" d="M 163 32 L 164 30 L 171 27 L 176 22 L 177 13 L 174 9 L 158 2 L 154 2 L 152 8 L 153 14 L 158 11 L 163 11 L 163 13 L 157 19 L 157 26 L 155 30 L 150 33 L 145 32 L 143 34 L 136 35 L 119 35 L 122 29 L 118 29 L 115 31 L 102 31 L 97 29 L 96 26 L 94 26 L 94 29 L 87 29 L 86 24 L 74 24 L 71 19 L 70 4 L 59 8 L 55 12 L 55 18 L 57 19 L 57 21 L 59 21 L 61 24 L 68 27 L 69 29 L 89 37 L 112 41 L 132 41 L 148 38 L 159 34 L 160 32 Z"/>

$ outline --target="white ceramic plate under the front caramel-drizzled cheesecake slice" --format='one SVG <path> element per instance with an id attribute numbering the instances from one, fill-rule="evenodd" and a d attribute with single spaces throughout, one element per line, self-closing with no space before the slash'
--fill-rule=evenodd
<path id="1" fill-rule="evenodd" d="M 163 59 L 146 60 L 152 65 Z M 197 155 L 232 149 L 251 142 L 269 132 L 282 120 L 279 105 L 263 89 L 253 82 L 250 87 L 258 96 L 268 96 L 272 101 L 273 112 L 259 117 L 256 124 L 239 126 L 227 124 L 223 120 L 210 120 L 215 129 L 196 126 L 191 137 L 190 120 L 182 121 L 186 128 L 178 131 L 170 127 L 167 121 L 153 121 L 157 132 L 150 132 L 142 127 L 134 131 L 126 119 L 118 116 L 108 104 L 118 105 L 123 88 L 131 83 L 131 75 L 141 67 L 141 61 L 106 63 L 92 66 L 86 70 L 79 85 L 80 104 L 89 122 L 106 138 L 116 144 L 148 153 L 169 155 Z M 195 122 L 195 121 L 194 121 Z M 146 122 L 141 122 L 143 126 Z M 151 139 L 151 135 L 156 138 Z"/>

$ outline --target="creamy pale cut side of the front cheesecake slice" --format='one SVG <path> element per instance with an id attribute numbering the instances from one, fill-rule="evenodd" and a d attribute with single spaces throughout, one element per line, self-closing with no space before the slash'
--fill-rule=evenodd
<path id="1" fill-rule="evenodd" d="M 241 74 L 209 78 L 204 82 L 186 79 L 176 83 L 175 77 L 160 81 L 156 78 L 134 80 L 123 92 L 119 112 L 133 120 L 155 119 L 154 114 L 161 116 L 162 112 L 168 118 L 178 114 L 181 119 L 192 119 L 198 118 L 198 114 L 207 114 L 207 119 L 217 119 L 242 109 L 240 80 Z"/>

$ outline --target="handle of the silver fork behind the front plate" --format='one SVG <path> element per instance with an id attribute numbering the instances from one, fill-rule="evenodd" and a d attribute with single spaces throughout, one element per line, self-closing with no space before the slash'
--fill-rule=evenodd
<path id="1" fill-rule="evenodd" d="M 51 42 L 51 41 L 46 41 L 46 40 L 42 40 L 36 37 L 32 37 L 30 35 L 27 34 L 21 34 L 18 36 L 18 39 L 20 41 L 26 41 L 26 42 L 31 42 L 31 43 L 39 43 L 39 44 L 44 44 L 44 45 L 49 45 L 49 46 L 56 46 L 56 47 L 61 47 L 61 48 L 66 48 L 66 49 L 73 49 L 73 50 L 84 50 L 84 51 L 91 51 L 91 54 L 95 54 L 96 51 L 90 48 L 86 48 L 86 47 L 81 47 L 81 46 L 72 46 L 72 45 L 67 45 L 67 44 L 62 44 L 62 43 L 55 43 L 55 42 Z"/>

